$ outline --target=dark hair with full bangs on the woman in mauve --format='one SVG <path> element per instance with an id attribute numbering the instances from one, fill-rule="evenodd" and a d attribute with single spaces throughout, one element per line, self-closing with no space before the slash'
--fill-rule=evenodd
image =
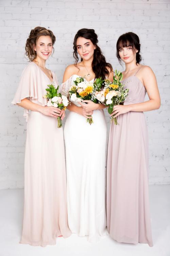
<path id="1" fill-rule="evenodd" d="M 136 53 L 136 64 L 140 63 L 140 61 L 142 60 L 142 57 L 140 55 L 140 42 L 139 42 L 139 37 L 137 34 L 133 33 L 133 32 L 128 32 L 125 34 L 122 34 L 117 41 L 116 44 L 116 57 L 119 60 L 119 63 L 121 63 L 121 58 L 119 56 L 119 49 L 122 47 L 128 47 L 128 46 L 132 46 L 133 47 L 133 51 L 135 53 L 135 49 L 138 50 L 138 52 Z"/>

